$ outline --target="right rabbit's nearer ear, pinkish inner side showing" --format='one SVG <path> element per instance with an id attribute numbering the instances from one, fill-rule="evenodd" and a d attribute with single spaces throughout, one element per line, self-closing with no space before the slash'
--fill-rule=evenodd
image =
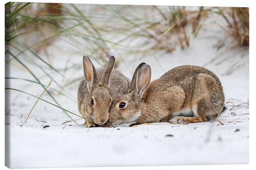
<path id="1" fill-rule="evenodd" d="M 147 64 L 142 65 L 137 74 L 136 91 L 137 98 L 142 99 L 143 93 L 147 90 L 151 80 L 151 67 Z"/>

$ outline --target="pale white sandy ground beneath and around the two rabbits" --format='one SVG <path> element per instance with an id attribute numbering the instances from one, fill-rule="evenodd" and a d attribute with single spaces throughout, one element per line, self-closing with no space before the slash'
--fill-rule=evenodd
<path id="1" fill-rule="evenodd" d="M 203 35 L 203 34 L 202 34 Z M 222 35 L 220 35 L 222 36 Z M 56 44 L 63 43 L 59 40 Z M 238 107 L 227 104 L 227 110 L 220 120 L 189 125 L 155 123 L 139 127 L 86 128 L 83 119 L 77 124 L 60 109 L 39 101 L 28 115 L 36 99 L 16 91 L 9 94 L 6 105 L 7 165 L 17 167 L 78 167 L 78 166 L 118 166 L 118 165 L 180 165 L 180 164 L 236 164 L 249 162 L 249 54 L 248 51 L 220 50 L 214 45 L 217 41 L 206 36 L 198 36 L 190 47 L 176 50 L 172 54 L 155 52 L 145 57 L 133 56 L 119 64 L 120 71 L 131 79 L 135 67 L 146 62 L 152 67 L 152 80 L 165 71 L 185 64 L 204 66 L 220 78 L 225 102 L 233 102 Z M 63 44 L 63 48 L 65 48 Z M 70 56 L 65 56 L 50 47 L 53 66 L 65 67 Z M 68 51 L 68 50 L 67 50 Z M 113 54 L 116 55 L 117 54 Z M 44 57 L 43 54 L 41 54 Z M 34 60 L 38 62 L 37 60 Z M 72 55 L 68 64 L 80 63 L 82 54 Z M 161 66 L 160 66 L 161 65 Z M 30 68 L 41 77 L 43 84 L 50 79 L 36 66 Z M 232 70 L 233 69 L 233 70 Z M 9 77 L 31 79 L 23 69 L 10 66 Z M 79 70 L 68 70 L 66 77 L 73 79 L 82 76 Z M 59 84 L 63 80 L 51 74 Z M 22 80 L 8 80 L 9 87 L 24 90 L 36 96 L 42 92 L 37 84 Z M 65 88 L 65 93 L 76 101 L 78 83 Z M 56 83 L 50 87 L 57 88 Z M 54 94 L 59 104 L 79 114 L 77 103 L 62 95 Z M 53 102 L 45 93 L 42 99 Z M 53 102 L 54 103 L 54 102 Z M 65 123 L 67 122 L 67 123 Z M 49 126 L 44 128 L 45 126 Z"/>

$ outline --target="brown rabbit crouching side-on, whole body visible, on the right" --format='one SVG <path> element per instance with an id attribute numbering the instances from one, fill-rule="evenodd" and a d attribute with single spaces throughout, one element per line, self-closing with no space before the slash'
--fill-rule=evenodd
<path id="1" fill-rule="evenodd" d="M 188 124 L 213 119 L 223 110 L 224 92 L 218 77 L 194 65 L 183 65 L 151 80 L 151 67 L 141 63 L 129 92 L 110 109 L 112 126 L 154 122 Z"/>

